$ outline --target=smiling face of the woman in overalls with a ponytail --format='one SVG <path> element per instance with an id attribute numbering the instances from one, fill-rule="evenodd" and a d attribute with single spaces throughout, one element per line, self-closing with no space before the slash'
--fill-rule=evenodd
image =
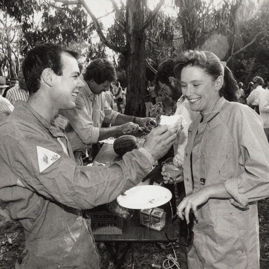
<path id="1" fill-rule="evenodd" d="M 216 80 L 197 66 L 187 66 L 181 71 L 182 94 L 188 98 L 191 110 L 199 111 L 202 115 L 210 112 L 219 100 L 219 90 L 222 78 Z"/>

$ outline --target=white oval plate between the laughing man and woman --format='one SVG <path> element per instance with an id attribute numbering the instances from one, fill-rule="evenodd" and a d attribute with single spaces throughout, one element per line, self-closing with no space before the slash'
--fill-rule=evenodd
<path id="1" fill-rule="evenodd" d="M 164 187 L 141 185 L 119 195 L 117 202 L 128 209 L 149 209 L 167 203 L 171 198 L 172 193 Z"/>

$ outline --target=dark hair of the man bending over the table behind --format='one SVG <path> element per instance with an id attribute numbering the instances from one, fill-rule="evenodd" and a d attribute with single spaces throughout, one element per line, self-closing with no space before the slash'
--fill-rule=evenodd
<path id="1" fill-rule="evenodd" d="M 105 81 L 114 82 L 117 74 L 112 61 L 108 59 L 93 60 L 83 74 L 85 80 L 93 79 L 98 85 Z"/>

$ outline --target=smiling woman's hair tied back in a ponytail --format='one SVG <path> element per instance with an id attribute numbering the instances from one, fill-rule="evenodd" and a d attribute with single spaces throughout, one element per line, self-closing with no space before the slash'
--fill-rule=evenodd
<path id="1" fill-rule="evenodd" d="M 228 101 L 237 101 L 236 95 L 237 82 L 232 71 L 226 66 L 225 62 L 221 62 L 213 52 L 189 50 L 180 54 L 176 60 L 174 73 L 176 78 L 179 78 L 184 67 L 196 66 L 204 70 L 213 77 L 214 80 L 218 76 L 223 76 L 223 85 L 219 91 L 219 95 L 223 96 Z"/>

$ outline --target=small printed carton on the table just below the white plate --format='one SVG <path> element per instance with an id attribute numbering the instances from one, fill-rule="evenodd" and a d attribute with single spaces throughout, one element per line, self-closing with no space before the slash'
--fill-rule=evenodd
<path id="1" fill-rule="evenodd" d="M 140 210 L 140 224 L 160 231 L 165 226 L 166 213 L 159 208 Z"/>

